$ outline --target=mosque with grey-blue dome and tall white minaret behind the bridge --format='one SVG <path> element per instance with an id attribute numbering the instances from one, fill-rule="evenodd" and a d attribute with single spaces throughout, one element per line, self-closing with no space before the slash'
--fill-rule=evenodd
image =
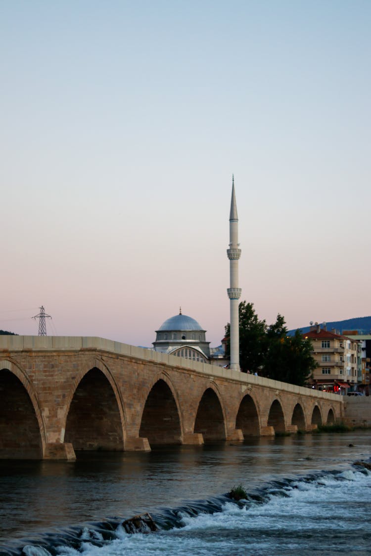
<path id="1" fill-rule="evenodd" d="M 170 317 L 156 330 L 156 341 L 152 342 L 156 351 L 201 361 L 214 365 L 226 366 L 240 370 L 239 365 L 239 298 L 241 289 L 238 287 L 238 261 L 241 255 L 238 243 L 238 215 L 232 178 L 232 197 L 229 216 L 230 244 L 227 257 L 230 262 L 230 287 L 227 294 L 230 299 L 230 359 L 226 358 L 225 348 L 227 340 L 224 338 L 218 347 L 210 347 L 206 341 L 206 330 L 192 317 L 179 315 Z"/>

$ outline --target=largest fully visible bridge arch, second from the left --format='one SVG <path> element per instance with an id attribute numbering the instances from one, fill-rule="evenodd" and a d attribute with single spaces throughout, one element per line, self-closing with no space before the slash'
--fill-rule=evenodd
<path id="1" fill-rule="evenodd" d="M 120 391 L 110 371 L 100 362 L 85 366 L 75 379 L 61 437 L 75 451 L 124 449 L 125 414 Z"/>

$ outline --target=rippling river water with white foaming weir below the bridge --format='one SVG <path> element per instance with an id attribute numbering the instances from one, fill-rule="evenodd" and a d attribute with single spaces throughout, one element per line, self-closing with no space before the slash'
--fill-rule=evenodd
<path id="1" fill-rule="evenodd" d="M 0 461 L 0 554 L 371 554 L 370 448 L 354 431 Z M 127 534 L 143 512 L 159 530 Z"/>

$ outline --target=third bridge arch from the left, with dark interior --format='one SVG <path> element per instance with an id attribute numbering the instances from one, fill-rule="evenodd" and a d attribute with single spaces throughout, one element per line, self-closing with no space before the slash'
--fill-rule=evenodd
<path id="1" fill-rule="evenodd" d="M 157 375 L 145 398 L 139 436 L 150 446 L 182 443 L 182 422 L 174 385 L 165 373 Z"/>

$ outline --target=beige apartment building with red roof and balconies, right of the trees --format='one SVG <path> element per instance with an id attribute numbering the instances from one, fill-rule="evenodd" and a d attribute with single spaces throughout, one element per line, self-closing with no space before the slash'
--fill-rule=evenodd
<path id="1" fill-rule="evenodd" d="M 347 394 L 357 390 L 358 374 L 362 374 L 362 350 L 355 337 L 329 331 L 315 324 L 303 334 L 313 345 L 317 367 L 308 385 L 317 390 Z"/>

